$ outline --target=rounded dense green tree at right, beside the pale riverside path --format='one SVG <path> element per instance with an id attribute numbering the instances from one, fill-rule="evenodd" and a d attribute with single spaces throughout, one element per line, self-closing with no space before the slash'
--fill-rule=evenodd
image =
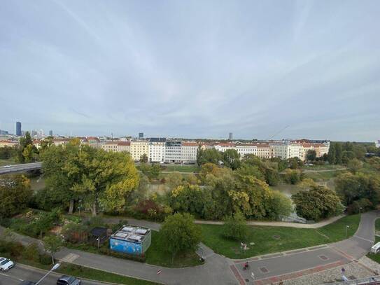
<path id="1" fill-rule="evenodd" d="M 318 221 L 342 213 L 343 206 L 334 190 L 325 186 L 311 186 L 292 196 L 297 215 Z"/>

